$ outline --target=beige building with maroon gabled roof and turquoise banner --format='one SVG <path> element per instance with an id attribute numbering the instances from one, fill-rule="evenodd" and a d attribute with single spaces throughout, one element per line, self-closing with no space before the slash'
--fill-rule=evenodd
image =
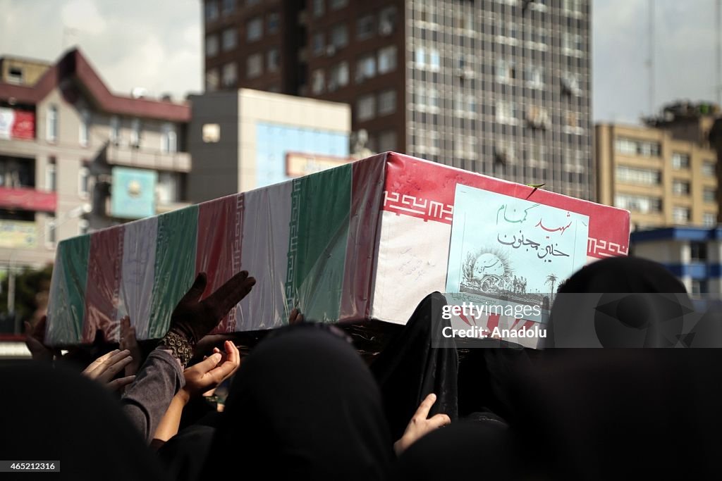
<path id="1" fill-rule="evenodd" d="M 79 50 L 44 70 L 1 66 L 0 270 L 38 267 L 61 239 L 186 205 L 188 105 L 111 93 Z"/>

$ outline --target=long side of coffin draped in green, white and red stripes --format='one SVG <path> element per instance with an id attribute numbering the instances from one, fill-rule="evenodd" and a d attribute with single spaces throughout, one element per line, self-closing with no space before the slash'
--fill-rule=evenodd
<path id="1" fill-rule="evenodd" d="M 361 319 L 370 305 L 383 162 L 367 159 L 58 244 L 48 342 L 118 340 L 129 315 L 140 339 L 162 337 L 198 273 L 209 296 L 240 270 L 256 277 L 215 332 L 307 318 Z M 344 295 L 363 288 L 358 295 Z"/>

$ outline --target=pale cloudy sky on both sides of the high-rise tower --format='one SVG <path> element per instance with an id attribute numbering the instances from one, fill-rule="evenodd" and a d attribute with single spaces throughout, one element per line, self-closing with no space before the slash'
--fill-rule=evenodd
<path id="1" fill-rule="evenodd" d="M 655 103 L 717 100 L 716 0 L 654 0 Z M 649 112 L 648 0 L 593 1 L 593 116 Z M 0 55 L 53 61 L 79 45 L 116 92 L 201 90 L 201 0 L 0 0 Z"/>

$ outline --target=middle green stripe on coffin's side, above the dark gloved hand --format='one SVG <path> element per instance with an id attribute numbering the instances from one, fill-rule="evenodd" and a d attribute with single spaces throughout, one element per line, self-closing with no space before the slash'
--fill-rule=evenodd
<path id="1" fill-rule="evenodd" d="M 195 278 L 197 237 L 198 206 L 158 216 L 155 279 L 148 334 L 144 338 L 157 339 L 168 331 L 170 314 Z"/>

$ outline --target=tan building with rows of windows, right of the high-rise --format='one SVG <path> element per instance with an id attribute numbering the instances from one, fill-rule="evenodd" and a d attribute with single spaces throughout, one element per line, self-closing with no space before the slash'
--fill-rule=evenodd
<path id="1" fill-rule="evenodd" d="M 648 125 L 596 125 L 599 202 L 628 209 L 632 229 L 716 226 L 715 108 L 680 103 Z"/>

